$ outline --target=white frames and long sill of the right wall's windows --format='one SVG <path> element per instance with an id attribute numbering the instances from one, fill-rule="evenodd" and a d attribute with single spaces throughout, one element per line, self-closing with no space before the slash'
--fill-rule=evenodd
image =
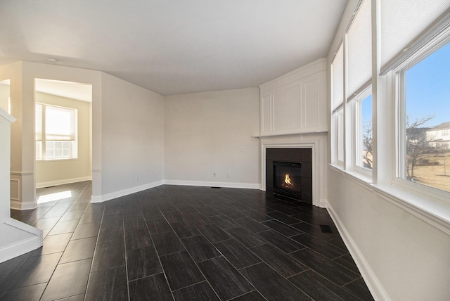
<path id="1" fill-rule="evenodd" d="M 359 1 L 361 3 L 361 1 Z M 344 43 L 347 38 L 347 31 L 352 24 L 355 13 L 349 18 L 349 25 L 347 29 L 343 30 L 341 37 L 335 37 L 335 45 L 340 45 L 342 40 Z M 401 66 L 405 65 L 405 61 L 416 53 L 424 44 L 430 44 L 431 42 L 441 39 L 442 37 L 450 37 L 450 9 L 442 12 L 438 18 L 432 20 L 432 23 L 423 31 L 417 31 L 416 37 L 413 38 L 401 52 L 397 53 L 390 60 L 381 64 L 381 46 L 383 44 L 383 33 L 380 29 L 380 4 L 379 2 L 372 1 L 372 78 L 371 84 L 373 84 L 373 174 L 372 177 L 364 177 L 363 174 L 354 172 L 352 167 L 352 158 L 349 153 L 353 151 L 352 141 L 348 141 L 347 135 L 346 146 L 352 146 L 347 148 L 345 166 L 336 164 L 335 153 L 337 149 L 336 145 L 336 133 L 335 133 L 335 116 L 336 110 L 333 110 L 333 93 L 330 93 L 330 153 L 331 161 L 329 167 L 334 172 L 342 175 L 355 184 L 358 184 L 362 188 L 365 188 L 368 192 L 373 193 L 378 199 L 386 200 L 387 202 L 395 205 L 401 210 L 405 210 L 413 214 L 418 219 L 423 220 L 430 226 L 443 231 L 450 235 L 450 198 L 448 196 L 442 196 L 441 191 L 435 192 L 436 188 L 428 189 L 423 185 L 411 185 L 406 180 L 396 178 L 398 151 L 397 147 L 399 137 L 398 129 L 398 112 L 397 112 L 397 95 L 398 85 L 395 70 L 399 70 Z M 334 52 L 334 54 L 336 54 Z M 417 53 L 416 53 L 417 55 Z M 329 53 L 329 65 L 333 63 L 333 53 Z M 347 59 L 347 58 L 345 58 Z M 332 68 L 330 68 L 332 70 Z M 347 79 L 346 79 L 347 80 Z M 330 89 L 333 89 L 333 75 L 330 75 Z M 332 91 L 332 90 L 331 90 Z M 352 96 L 348 95 L 347 89 L 345 90 L 347 101 L 351 101 Z M 356 91 L 358 94 L 358 91 Z M 356 95 L 355 95 L 356 96 Z M 383 112 L 383 115 L 378 114 Z M 351 116 L 352 103 L 345 105 L 345 126 L 346 134 L 352 132 L 353 127 Z M 380 156 L 380 154 L 383 154 Z M 412 187 L 411 187 L 412 186 Z M 414 187 L 418 186 L 418 187 Z M 431 190 L 431 192 L 430 192 Z M 440 194 L 440 195 L 439 195 Z M 446 195 L 446 193 L 444 193 Z M 444 201 L 442 201 L 444 200 Z"/>

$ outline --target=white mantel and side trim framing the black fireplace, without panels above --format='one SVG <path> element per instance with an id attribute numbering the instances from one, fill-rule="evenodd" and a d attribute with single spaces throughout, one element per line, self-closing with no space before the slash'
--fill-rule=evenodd
<path id="1" fill-rule="evenodd" d="M 312 205 L 326 207 L 327 199 L 327 132 L 259 136 L 261 142 L 261 190 L 266 191 L 267 148 L 311 148 L 312 151 Z"/>

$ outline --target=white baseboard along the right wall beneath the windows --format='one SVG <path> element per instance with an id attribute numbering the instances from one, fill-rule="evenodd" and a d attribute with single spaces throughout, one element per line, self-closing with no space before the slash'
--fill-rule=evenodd
<path id="1" fill-rule="evenodd" d="M 377 276 L 364 258 L 364 255 L 362 255 L 361 251 L 359 250 L 356 243 L 354 243 L 347 229 L 345 229 L 345 226 L 342 224 L 340 218 L 338 217 L 338 214 L 336 214 L 335 210 L 333 210 L 333 207 L 331 207 L 330 203 L 327 203 L 326 209 L 328 210 L 331 219 L 333 219 L 336 228 L 338 228 L 340 236 L 347 246 L 350 255 L 352 255 L 356 266 L 361 272 L 361 276 L 364 278 L 364 281 L 366 281 L 367 287 L 371 291 L 373 298 L 375 300 L 383 301 L 391 300 L 391 298 L 389 297 L 389 295 L 387 295 L 385 289 L 381 285 L 380 281 L 378 281 Z"/>

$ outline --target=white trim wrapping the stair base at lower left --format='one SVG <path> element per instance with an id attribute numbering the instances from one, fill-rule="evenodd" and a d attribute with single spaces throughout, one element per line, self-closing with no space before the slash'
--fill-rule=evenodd
<path id="1" fill-rule="evenodd" d="M 42 230 L 36 229 L 33 226 L 19 222 L 16 219 L 8 217 L 5 219 L 4 226 L 12 226 L 21 231 L 32 234 L 30 238 L 25 238 L 22 241 L 17 241 L 15 243 L 10 243 L 9 245 L 4 245 L 0 248 L 0 262 L 6 262 L 6 260 L 11 260 L 14 257 L 18 257 L 32 250 L 36 250 L 42 246 Z"/>

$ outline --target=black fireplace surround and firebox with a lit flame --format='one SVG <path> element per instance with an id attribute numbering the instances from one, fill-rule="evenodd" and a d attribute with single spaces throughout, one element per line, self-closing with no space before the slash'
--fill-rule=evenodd
<path id="1" fill-rule="evenodd" d="M 312 205 L 311 148 L 266 148 L 266 192 Z"/>

